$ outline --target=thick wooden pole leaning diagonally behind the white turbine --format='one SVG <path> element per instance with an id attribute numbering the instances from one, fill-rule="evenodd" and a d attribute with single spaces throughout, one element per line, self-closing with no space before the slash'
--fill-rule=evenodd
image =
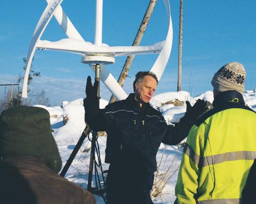
<path id="1" fill-rule="evenodd" d="M 139 46 L 141 39 L 144 35 L 144 32 L 146 31 L 146 26 L 149 23 L 151 14 L 155 8 L 155 4 L 156 4 L 157 0 L 150 0 L 148 8 L 146 9 L 146 13 L 144 15 L 144 18 L 140 24 L 139 30 L 137 32 L 137 35 L 133 41 L 133 46 Z M 128 75 L 128 72 L 130 70 L 130 65 L 132 65 L 134 56 L 128 56 L 126 59 L 126 62 L 124 63 L 123 69 L 121 71 L 121 74 L 119 75 L 119 78 L 117 80 L 118 84 L 121 85 L 123 87 L 124 81 L 126 80 L 126 77 Z M 115 96 L 111 96 L 110 98 L 110 103 L 115 102 L 116 101 L 116 97 Z"/>

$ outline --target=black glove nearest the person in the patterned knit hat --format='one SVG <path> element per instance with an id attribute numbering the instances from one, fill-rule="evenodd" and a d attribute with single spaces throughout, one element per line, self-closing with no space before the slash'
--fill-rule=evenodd
<path id="1" fill-rule="evenodd" d="M 204 100 L 197 100 L 197 102 L 192 107 L 188 101 L 186 115 L 190 119 L 197 119 L 201 114 L 203 114 L 208 109 L 208 104 Z"/>

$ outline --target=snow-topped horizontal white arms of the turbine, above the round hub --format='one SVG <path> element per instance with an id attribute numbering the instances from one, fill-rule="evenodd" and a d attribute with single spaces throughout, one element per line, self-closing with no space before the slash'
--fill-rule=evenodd
<path id="1" fill-rule="evenodd" d="M 40 40 L 37 43 L 39 49 L 51 49 L 56 51 L 72 52 L 86 56 L 127 56 L 132 54 L 159 53 L 164 43 L 156 43 L 152 46 L 113 46 L 106 44 L 96 46 L 90 42 L 78 41 L 70 38 L 62 39 L 57 42 Z"/>

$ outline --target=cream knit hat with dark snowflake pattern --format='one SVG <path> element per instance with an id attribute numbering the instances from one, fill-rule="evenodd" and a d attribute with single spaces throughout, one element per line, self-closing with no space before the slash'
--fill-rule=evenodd
<path id="1" fill-rule="evenodd" d="M 238 62 L 231 62 L 225 64 L 214 74 L 211 85 L 220 92 L 236 90 L 243 93 L 245 81 L 246 70 L 243 65 Z"/>

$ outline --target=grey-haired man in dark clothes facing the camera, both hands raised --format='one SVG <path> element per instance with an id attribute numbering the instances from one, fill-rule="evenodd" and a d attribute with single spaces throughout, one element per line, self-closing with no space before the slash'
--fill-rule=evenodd
<path id="1" fill-rule="evenodd" d="M 133 82 L 134 93 L 126 100 L 99 108 L 98 82 L 86 84 L 85 122 L 95 131 L 106 131 L 105 162 L 107 203 L 152 203 L 150 190 L 156 171 L 156 153 L 161 142 L 177 145 L 187 137 L 195 119 L 206 110 L 198 100 L 193 107 L 187 102 L 187 113 L 178 124 L 167 125 L 164 117 L 149 104 L 158 84 L 150 71 L 139 71 Z"/>

